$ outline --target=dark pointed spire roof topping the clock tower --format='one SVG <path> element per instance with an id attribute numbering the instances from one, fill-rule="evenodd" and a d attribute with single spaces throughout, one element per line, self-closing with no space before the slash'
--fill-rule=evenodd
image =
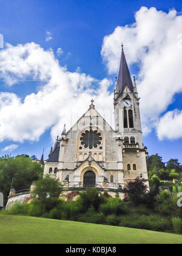
<path id="1" fill-rule="evenodd" d="M 121 44 L 121 46 L 122 46 L 122 51 L 121 51 L 120 71 L 118 76 L 118 93 L 121 93 L 124 90 L 124 87 L 126 85 L 130 89 L 130 91 L 133 92 L 133 83 L 130 76 L 129 68 L 127 66 L 126 58 L 124 55 L 123 43 Z"/>

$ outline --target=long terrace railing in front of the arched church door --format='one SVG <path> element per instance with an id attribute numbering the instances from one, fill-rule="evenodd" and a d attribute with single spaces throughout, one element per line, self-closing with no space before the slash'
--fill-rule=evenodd
<path id="1" fill-rule="evenodd" d="M 93 184 L 84 183 L 84 182 L 64 182 L 62 185 L 67 188 L 109 188 L 113 190 L 123 190 L 124 183 L 104 183 L 104 182 L 95 182 Z"/>

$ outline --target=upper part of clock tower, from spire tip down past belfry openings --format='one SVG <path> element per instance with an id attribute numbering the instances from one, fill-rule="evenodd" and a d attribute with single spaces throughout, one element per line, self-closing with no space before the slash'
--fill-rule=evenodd
<path id="1" fill-rule="evenodd" d="M 133 82 L 127 66 L 126 57 L 124 55 L 123 44 L 121 51 L 121 62 L 118 80 L 115 80 L 114 91 L 114 109 L 115 109 L 115 130 L 121 133 L 121 137 L 135 138 L 135 143 L 140 144 L 143 148 L 143 138 L 140 120 L 140 99 L 136 88 L 135 77 Z M 132 138 L 132 143 L 134 139 Z"/>

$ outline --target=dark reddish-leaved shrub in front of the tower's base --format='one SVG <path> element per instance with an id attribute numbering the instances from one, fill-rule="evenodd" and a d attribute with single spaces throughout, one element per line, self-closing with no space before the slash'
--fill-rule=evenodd
<path id="1" fill-rule="evenodd" d="M 144 183 L 144 179 L 137 177 L 135 182 L 127 183 L 124 188 L 124 192 L 129 195 L 130 200 L 135 205 L 140 205 L 143 202 L 144 195 L 147 192 L 147 185 Z"/>

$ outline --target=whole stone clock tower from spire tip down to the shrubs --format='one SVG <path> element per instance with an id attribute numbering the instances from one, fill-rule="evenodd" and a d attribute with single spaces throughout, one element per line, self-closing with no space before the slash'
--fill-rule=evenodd
<path id="1" fill-rule="evenodd" d="M 115 131 L 122 138 L 124 180 L 141 177 L 147 185 L 147 148 L 144 148 L 140 119 L 140 98 L 133 82 L 124 55 L 123 44 L 118 79 L 115 80 L 113 99 L 115 109 Z"/>

